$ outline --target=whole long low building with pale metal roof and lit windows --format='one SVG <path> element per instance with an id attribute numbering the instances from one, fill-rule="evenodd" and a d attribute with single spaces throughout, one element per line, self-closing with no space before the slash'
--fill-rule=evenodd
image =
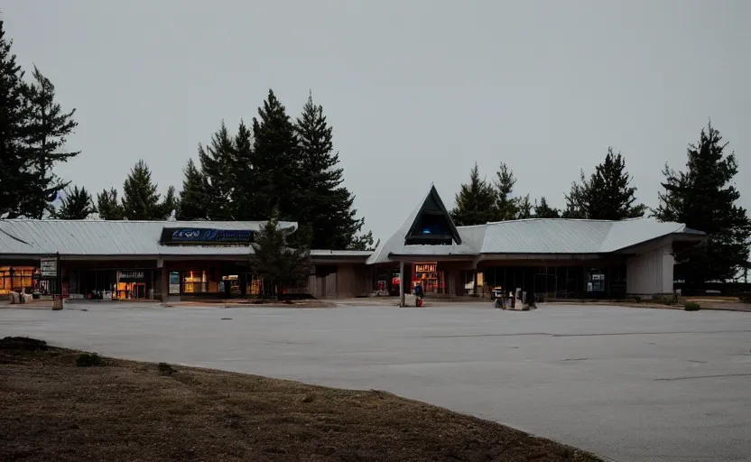
<path id="1" fill-rule="evenodd" d="M 651 218 L 526 219 L 454 226 L 435 188 L 371 251 L 312 250 L 294 290 L 320 299 L 485 295 L 500 286 L 546 300 L 672 293 L 673 254 L 704 234 Z M 262 222 L 0 220 L 0 296 L 190 300 L 252 297 L 250 245 Z M 291 232 L 296 223 L 280 226 Z M 402 275 L 400 277 L 400 274 Z"/>

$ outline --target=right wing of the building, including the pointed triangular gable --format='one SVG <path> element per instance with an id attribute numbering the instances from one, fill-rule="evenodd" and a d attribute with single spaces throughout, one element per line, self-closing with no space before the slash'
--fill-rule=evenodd
<path id="1" fill-rule="evenodd" d="M 672 294 L 673 255 L 703 238 L 680 223 L 652 218 L 455 226 L 431 188 L 367 264 L 376 268 L 379 287 L 393 274 L 391 287 L 401 281 L 401 293 L 420 282 L 429 294 L 520 288 L 547 300 L 653 296 Z"/>

